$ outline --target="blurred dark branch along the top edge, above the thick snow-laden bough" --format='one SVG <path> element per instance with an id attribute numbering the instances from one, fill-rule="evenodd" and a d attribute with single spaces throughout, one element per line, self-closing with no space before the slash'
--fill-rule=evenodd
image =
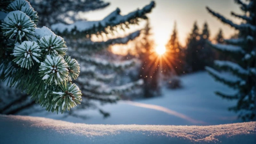
<path id="1" fill-rule="evenodd" d="M 89 12 L 109 6 L 102 0 L 29 0 L 39 15 L 38 26 L 50 27 L 52 24 L 76 21 L 79 12 Z"/>

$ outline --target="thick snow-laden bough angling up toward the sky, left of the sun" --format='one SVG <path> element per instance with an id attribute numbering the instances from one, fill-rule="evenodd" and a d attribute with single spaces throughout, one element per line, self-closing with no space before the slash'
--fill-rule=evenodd
<path id="1" fill-rule="evenodd" d="M 155 2 L 151 2 L 142 9 L 138 9 L 134 12 L 130 12 L 127 15 L 120 15 L 120 9 L 116 9 L 110 13 L 107 17 L 100 21 L 77 21 L 73 24 L 57 23 L 51 26 L 52 30 L 57 34 L 61 35 L 77 35 L 82 34 L 97 34 L 97 33 L 108 33 L 108 30 L 113 29 L 116 26 L 121 26 L 128 22 L 129 24 L 137 24 L 138 19 L 146 19 L 146 13 L 151 12 L 155 7 Z M 109 28 L 110 27 L 110 28 Z"/>

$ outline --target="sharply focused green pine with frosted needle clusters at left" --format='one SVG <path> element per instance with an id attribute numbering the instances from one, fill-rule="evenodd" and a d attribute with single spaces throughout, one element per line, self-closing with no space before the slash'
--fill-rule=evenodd
<path id="1" fill-rule="evenodd" d="M 68 48 L 64 39 L 46 27 L 36 28 L 37 12 L 26 0 L 10 2 L 1 12 L 6 15 L 0 24 L 1 80 L 26 91 L 48 111 L 63 113 L 80 104 L 82 93 L 68 79 L 76 79 L 80 67 L 75 59 L 72 63 L 66 61 Z M 25 100 L 26 96 L 22 94 L 20 98 Z"/>

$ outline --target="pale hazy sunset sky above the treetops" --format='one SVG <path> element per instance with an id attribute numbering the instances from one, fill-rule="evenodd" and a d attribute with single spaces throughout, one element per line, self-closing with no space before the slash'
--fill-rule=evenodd
<path id="1" fill-rule="evenodd" d="M 117 7 L 121 9 L 121 14 L 127 14 L 149 4 L 150 0 L 107 0 L 106 2 L 111 3 L 107 8 L 86 13 L 87 20 L 101 20 Z M 186 38 L 192 30 L 194 21 L 197 21 L 200 29 L 206 21 L 211 37 L 215 37 L 220 28 L 223 30 L 224 37 L 235 33 L 233 28 L 224 25 L 208 13 L 205 6 L 209 6 L 236 23 L 239 23 L 239 20 L 232 17 L 230 12 L 241 13 L 239 5 L 235 4 L 234 0 L 155 0 L 155 2 L 156 7 L 148 17 L 152 27 L 151 32 L 158 46 L 165 45 L 169 40 L 174 21 L 177 23 L 178 36 L 182 45 L 186 44 Z"/>

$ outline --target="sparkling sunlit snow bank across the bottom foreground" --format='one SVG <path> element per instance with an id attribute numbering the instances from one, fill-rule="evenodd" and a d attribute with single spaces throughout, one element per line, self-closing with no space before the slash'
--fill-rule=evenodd
<path id="1" fill-rule="evenodd" d="M 256 122 L 213 126 L 75 124 L 0 115 L 0 143 L 256 143 Z"/>

